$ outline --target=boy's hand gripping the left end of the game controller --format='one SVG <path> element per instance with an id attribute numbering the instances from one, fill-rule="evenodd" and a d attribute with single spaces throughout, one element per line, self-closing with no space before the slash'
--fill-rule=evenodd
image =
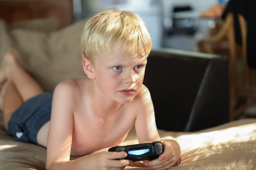
<path id="1" fill-rule="evenodd" d="M 84 163 L 87 164 L 87 168 L 85 169 L 89 168 L 90 170 L 123 170 L 125 166 L 132 164 L 132 161 L 126 159 L 116 159 L 124 158 L 126 156 L 126 152 L 97 151 L 81 158 L 84 159 Z M 88 165 L 90 166 L 88 167 Z"/>

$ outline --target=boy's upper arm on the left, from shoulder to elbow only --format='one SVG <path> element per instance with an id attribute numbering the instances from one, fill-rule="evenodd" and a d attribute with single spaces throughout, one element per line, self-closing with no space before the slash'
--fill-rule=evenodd
<path id="1" fill-rule="evenodd" d="M 72 144 L 73 110 L 69 88 L 61 82 L 54 89 L 52 115 L 50 121 L 46 169 L 56 161 L 69 161 Z"/>

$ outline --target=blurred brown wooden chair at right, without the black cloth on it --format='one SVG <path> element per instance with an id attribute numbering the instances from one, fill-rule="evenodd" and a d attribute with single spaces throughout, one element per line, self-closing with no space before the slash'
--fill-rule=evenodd
<path id="1" fill-rule="evenodd" d="M 242 44 L 236 43 L 234 14 L 227 14 L 222 27 L 209 39 L 198 42 L 200 52 L 217 53 L 214 44 L 228 42 L 229 57 L 229 119 L 238 119 L 245 111 L 256 105 L 256 70 L 247 64 L 247 22 L 238 15 Z"/>

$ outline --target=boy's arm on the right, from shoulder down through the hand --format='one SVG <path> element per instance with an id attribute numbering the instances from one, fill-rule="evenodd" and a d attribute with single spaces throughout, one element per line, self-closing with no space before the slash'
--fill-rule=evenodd
<path id="1" fill-rule="evenodd" d="M 159 140 L 157 126 L 155 124 L 155 112 L 153 102 L 148 89 L 142 88 L 141 104 L 135 121 L 136 134 L 139 143 Z M 164 153 L 158 159 L 145 161 L 145 165 L 155 170 L 164 170 L 173 166 L 180 159 L 180 145 L 171 139 L 160 140 L 164 145 Z"/>

